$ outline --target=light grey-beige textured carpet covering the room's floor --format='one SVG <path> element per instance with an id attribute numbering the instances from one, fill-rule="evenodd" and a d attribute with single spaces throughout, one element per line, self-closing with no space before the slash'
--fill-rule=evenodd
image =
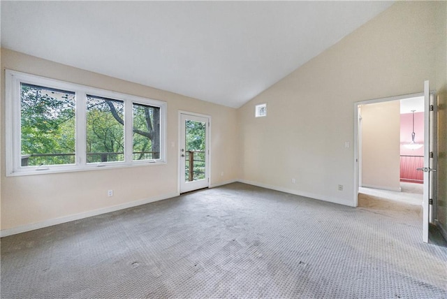
<path id="1" fill-rule="evenodd" d="M 229 184 L 1 239 L 1 298 L 447 298 L 418 212 Z"/>

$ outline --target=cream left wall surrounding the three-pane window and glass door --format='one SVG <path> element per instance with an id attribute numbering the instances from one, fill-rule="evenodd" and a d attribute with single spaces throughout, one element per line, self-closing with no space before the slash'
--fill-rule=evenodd
<path id="1" fill-rule="evenodd" d="M 108 89 L 168 103 L 166 165 L 101 169 L 6 177 L 4 168 L 4 70 Z M 211 184 L 233 182 L 239 176 L 237 112 L 233 108 L 198 101 L 98 73 L 1 49 L 1 230 L 3 235 L 55 224 L 118 207 L 176 196 L 178 175 L 178 110 L 212 117 Z M 175 146 L 171 147 L 171 143 Z M 222 157 L 225 157 L 223 159 Z M 221 173 L 223 172 L 223 175 Z M 107 190 L 114 196 L 108 197 Z"/>

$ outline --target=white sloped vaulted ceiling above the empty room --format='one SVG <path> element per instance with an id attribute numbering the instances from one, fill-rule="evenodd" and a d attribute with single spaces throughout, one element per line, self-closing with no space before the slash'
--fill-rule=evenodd
<path id="1" fill-rule="evenodd" d="M 392 1 L 1 1 L 1 46 L 238 108 Z"/>

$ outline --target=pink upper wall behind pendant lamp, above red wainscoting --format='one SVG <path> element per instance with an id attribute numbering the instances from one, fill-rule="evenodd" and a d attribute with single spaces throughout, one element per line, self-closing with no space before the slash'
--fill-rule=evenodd
<path id="1" fill-rule="evenodd" d="M 404 144 L 411 142 L 412 130 L 412 117 L 411 113 L 405 113 L 400 115 L 400 154 L 409 156 L 423 156 L 424 147 L 420 149 L 407 149 Z M 416 143 L 424 143 L 424 112 L 414 112 L 414 133 Z"/>

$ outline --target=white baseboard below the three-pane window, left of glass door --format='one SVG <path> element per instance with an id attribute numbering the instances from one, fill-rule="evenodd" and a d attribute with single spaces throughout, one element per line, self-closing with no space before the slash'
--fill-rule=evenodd
<path id="1" fill-rule="evenodd" d="M 141 200 L 135 200 L 135 201 L 132 201 L 130 203 L 123 203 L 121 205 L 114 205 L 112 207 L 104 207 L 104 208 L 98 209 L 98 210 L 82 212 L 82 213 L 79 213 L 79 214 L 73 214 L 73 215 L 59 217 L 59 218 L 55 218 L 55 219 L 48 219 L 48 220 L 45 220 L 45 221 L 36 222 L 34 224 L 25 224 L 23 226 L 16 226 L 14 228 L 7 228 L 7 229 L 4 229 L 4 230 L 0 231 L 0 238 L 7 237 L 8 235 L 16 235 L 17 233 L 25 233 L 27 231 L 34 231 L 34 230 L 39 229 L 39 228 L 44 228 L 44 227 L 48 227 L 48 226 L 54 226 L 54 225 L 57 225 L 57 224 L 63 224 L 63 223 L 74 221 L 74 220 L 79 220 L 79 219 L 83 219 L 83 218 L 87 218 L 87 217 L 92 217 L 92 216 L 96 216 L 96 215 L 99 215 L 99 214 L 105 214 L 105 213 L 109 213 L 109 212 L 115 212 L 115 211 L 118 211 L 118 210 L 124 210 L 124 209 L 126 209 L 128 207 L 136 207 L 137 205 L 145 205 L 146 203 L 153 203 L 154 201 L 159 201 L 159 200 L 163 200 L 163 199 L 167 199 L 167 198 L 173 198 L 175 196 L 179 196 L 179 194 L 178 193 L 165 194 L 165 195 L 162 195 L 162 196 L 155 196 L 155 197 L 152 197 L 152 198 L 145 198 L 145 199 L 141 199 Z"/>

